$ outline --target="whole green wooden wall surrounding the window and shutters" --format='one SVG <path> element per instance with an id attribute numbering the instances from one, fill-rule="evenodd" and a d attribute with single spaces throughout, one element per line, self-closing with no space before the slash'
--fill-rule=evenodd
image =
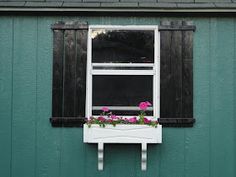
<path id="1" fill-rule="evenodd" d="M 157 17 L 0 17 L 1 177 L 236 177 L 236 18 L 195 17 L 193 128 L 164 128 L 163 144 L 97 146 L 81 128 L 52 128 L 52 31 L 58 20 L 159 24 Z M 173 18 L 171 18 L 173 19 Z M 181 19 L 181 18 L 178 18 Z"/>

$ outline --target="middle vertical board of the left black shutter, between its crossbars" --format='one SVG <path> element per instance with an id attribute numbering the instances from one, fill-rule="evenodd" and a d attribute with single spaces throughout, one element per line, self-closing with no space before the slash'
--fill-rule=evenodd
<path id="1" fill-rule="evenodd" d="M 63 77 L 63 116 L 75 116 L 76 94 L 76 36 L 75 30 L 65 30 L 65 58 Z"/>

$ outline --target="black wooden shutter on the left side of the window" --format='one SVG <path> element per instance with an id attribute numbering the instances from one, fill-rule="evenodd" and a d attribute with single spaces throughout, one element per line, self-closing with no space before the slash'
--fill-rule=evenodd
<path id="1" fill-rule="evenodd" d="M 52 126 L 80 127 L 85 117 L 88 24 L 57 22 L 53 30 Z"/>

